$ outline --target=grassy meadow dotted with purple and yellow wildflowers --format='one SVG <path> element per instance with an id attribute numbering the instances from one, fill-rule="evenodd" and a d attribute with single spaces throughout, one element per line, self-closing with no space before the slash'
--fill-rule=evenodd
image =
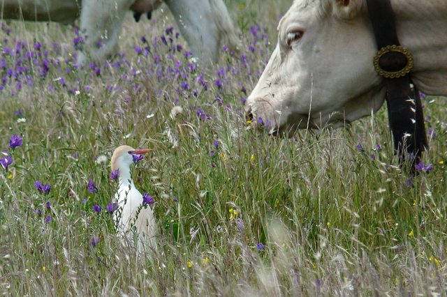
<path id="1" fill-rule="evenodd" d="M 423 98 L 416 176 L 397 166 L 385 107 L 349 128 L 256 132 L 244 101 L 291 0 L 226 3 L 241 53 L 222 45 L 212 66 L 166 9 L 129 13 L 119 56 L 85 68 L 76 28 L 1 23 L 4 296 L 447 294 L 446 98 Z M 133 179 L 153 196 L 157 251 L 115 230 L 124 144 L 154 150 Z"/>

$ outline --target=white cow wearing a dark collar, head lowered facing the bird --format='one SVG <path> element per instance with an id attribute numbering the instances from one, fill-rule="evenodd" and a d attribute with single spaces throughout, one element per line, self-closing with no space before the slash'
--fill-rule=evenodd
<path id="1" fill-rule="evenodd" d="M 447 1 L 391 4 L 400 43 L 413 54 L 413 82 L 423 93 L 447 96 Z M 386 93 L 376 52 L 366 0 L 295 0 L 246 112 L 281 134 L 371 115 Z"/>

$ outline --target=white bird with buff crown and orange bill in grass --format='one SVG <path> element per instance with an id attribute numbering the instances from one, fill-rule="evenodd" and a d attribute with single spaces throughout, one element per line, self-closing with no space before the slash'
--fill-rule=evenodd
<path id="1" fill-rule="evenodd" d="M 133 241 L 133 226 L 138 233 L 138 250 L 145 250 L 149 245 L 156 250 L 156 223 L 152 209 L 149 205 L 142 206 L 143 196 L 135 188 L 131 176 L 133 155 L 142 155 L 152 151 L 150 149 L 135 150 L 131 146 L 119 146 L 112 155 L 112 172 L 119 170 L 119 188 L 115 194 L 115 201 L 122 209 L 121 218 L 118 220 L 118 228 L 124 231 L 129 242 Z M 140 212 L 138 213 L 138 209 Z M 117 213 L 117 212 L 115 212 Z"/>

